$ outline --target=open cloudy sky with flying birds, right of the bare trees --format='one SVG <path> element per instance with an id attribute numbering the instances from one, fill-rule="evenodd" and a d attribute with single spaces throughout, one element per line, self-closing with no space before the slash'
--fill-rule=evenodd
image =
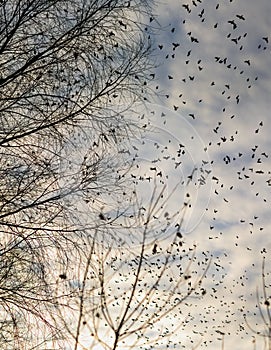
<path id="1" fill-rule="evenodd" d="M 142 169 L 151 164 L 166 174 L 167 193 L 197 167 L 197 186 L 181 184 L 169 205 L 192 193 L 185 240 L 213 262 L 207 294 L 191 302 L 185 332 L 202 349 L 221 349 L 220 332 L 225 349 L 253 349 L 255 334 L 243 315 L 255 312 L 249 322 L 263 330 L 256 299 L 263 258 L 269 297 L 271 283 L 271 2 L 156 4 L 158 94 L 148 114 L 155 135 L 135 146 Z M 187 152 L 176 166 L 180 144 Z M 263 339 L 256 337 L 256 345 L 263 349 Z"/>

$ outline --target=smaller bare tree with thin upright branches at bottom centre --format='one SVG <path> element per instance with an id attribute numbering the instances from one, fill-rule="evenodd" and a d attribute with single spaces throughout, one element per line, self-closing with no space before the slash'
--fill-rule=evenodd
<path id="1" fill-rule="evenodd" d="M 137 246 L 108 248 L 95 241 L 81 260 L 78 295 L 70 300 L 72 322 L 59 310 L 74 350 L 188 346 L 181 334 L 191 317 L 191 299 L 206 293 L 202 282 L 210 262 L 206 259 L 201 272 L 194 267 L 196 246 L 188 247 L 182 237 L 183 213 L 177 221 L 174 214 L 164 215 L 167 200 L 163 189 L 154 188 L 146 212 L 138 208 L 127 218 L 123 229 L 127 235 L 137 230 Z M 171 234 L 150 239 L 155 230 Z"/>

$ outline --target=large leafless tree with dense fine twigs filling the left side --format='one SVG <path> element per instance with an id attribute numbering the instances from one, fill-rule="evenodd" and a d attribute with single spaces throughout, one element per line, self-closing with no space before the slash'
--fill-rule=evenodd
<path id="1" fill-rule="evenodd" d="M 101 208 L 125 187 L 120 151 L 137 121 L 117 106 L 146 96 L 148 3 L 1 1 L 3 349 L 63 340 L 54 315 L 78 293 L 67 276 L 80 274 L 77 259 L 105 226 Z"/>

